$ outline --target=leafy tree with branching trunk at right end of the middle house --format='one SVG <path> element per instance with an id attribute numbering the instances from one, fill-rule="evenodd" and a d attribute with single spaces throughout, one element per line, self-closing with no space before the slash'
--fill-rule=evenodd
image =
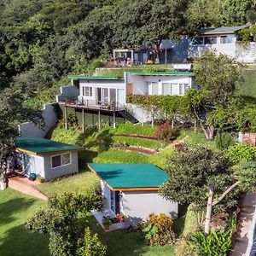
<path id="1" fill-rule="evenodd" d="M 212 51 L 206 52 L 195 63 L 195 82 L 200 90 L 189 90 L 186 102 L 207 139 L 212 139 L 216 128 L 223 126 L 224 108 L 233 107 L 236 88 L 243 80 L 242 67 L 229 56 L 216 55 Z"/>

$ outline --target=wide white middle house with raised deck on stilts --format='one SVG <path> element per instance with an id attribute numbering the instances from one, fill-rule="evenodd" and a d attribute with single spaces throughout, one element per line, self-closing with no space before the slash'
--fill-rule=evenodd
<path id="1" fill-rule="evenodd" d="M 66 120 L 71 109 L 82 113 L 83 127 L 89 123 L 112 125 L 125 120 L 135 124 L 147 121 L 148 114 L 127 104 L 128 95 L 183 96 L 186 90 L 196 87 L 193 77 L 192 72 L 127 72 L 124 78 L 70 75 L 79 96 L 73 101 L 73 96 L 62 93 L 57 96 L 57 102 Z"/>

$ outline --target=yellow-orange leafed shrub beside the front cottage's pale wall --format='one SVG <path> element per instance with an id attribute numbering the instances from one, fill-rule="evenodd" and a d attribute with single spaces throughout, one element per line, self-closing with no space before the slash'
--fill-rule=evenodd
<path id="1" fill-rule="evenodd" d="M 172 230 L 172 218 L 164 213 L 150 214 L 143 232 L 150 246 L 172 243 L 175 234 Z"/>

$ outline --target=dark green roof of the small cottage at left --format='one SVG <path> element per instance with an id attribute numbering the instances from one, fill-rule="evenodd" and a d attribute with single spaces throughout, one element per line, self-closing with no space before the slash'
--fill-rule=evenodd
<path id="1" fill-rule="evenodd" d="M 20 151 L 32 154 L 46 154 L 60 151 L 70 151 L 83 149 L 80 146 L 69 145 L 66 143 L 57 143 L 42 137 L 18 137 L 16 147 Z"/>

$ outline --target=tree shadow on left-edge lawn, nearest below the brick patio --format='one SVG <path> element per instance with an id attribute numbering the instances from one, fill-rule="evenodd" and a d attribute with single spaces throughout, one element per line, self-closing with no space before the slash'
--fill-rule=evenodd
<path id="1" fill-rule="evenodd" d="M 9 224 L 15 221 L 13 213 L 26 211 L 34 204 L 34 199 L 15 198 L 0 204 L 0 224 Z M 0 254 L 1 255 L 1 254 Z"/>

